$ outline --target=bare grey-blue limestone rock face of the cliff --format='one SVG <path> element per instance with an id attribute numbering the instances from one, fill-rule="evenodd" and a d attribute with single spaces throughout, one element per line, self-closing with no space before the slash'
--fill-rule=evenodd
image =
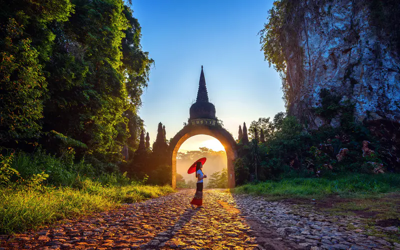
<path id="1" fill-rule="evenodd" d="M 303 20 L 298 24 L 299 53 L 285 48 L 286 79 L 290 86 L 289 113 L 305 119 L 311 128 L 330 124 L 315 113 L 325 88 L 354 104 L 358 121 L 400 121 L 400 57 L 377 34 L 366 1 L 301 0 Z M 287 39 L 288 34 L 286 34 Z"/>

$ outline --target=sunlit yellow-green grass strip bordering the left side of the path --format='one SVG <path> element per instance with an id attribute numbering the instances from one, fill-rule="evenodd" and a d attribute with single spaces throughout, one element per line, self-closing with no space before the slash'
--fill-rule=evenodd
<path id="1" fill-rule="evenodd" d="M 89 215 L 173 192 L 171 186 L 102 186 L 84 181 L 82 188 L 17 186 L 0 189 L 0 234 L 35 229 L 56 220 Z"/>

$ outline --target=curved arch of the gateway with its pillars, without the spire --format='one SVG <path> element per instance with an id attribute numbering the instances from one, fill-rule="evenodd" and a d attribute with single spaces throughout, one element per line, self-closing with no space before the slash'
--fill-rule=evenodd
<path id="1" fill-rule="evenodd" d="M 237 157 L 236 141 L 226 129 L 219 126 L 207 125 L 186 125 L 175 134 L 168 146 L 168 157 L 172 166 L 172 187 L 176 187 L 176 155 L 182 143 L 194 135 L 210 135 L 223 145 L 226 151 L 227 169 L 228 169 L 228 188 L 235 186 L 235 176 L 233 161 Z"/>

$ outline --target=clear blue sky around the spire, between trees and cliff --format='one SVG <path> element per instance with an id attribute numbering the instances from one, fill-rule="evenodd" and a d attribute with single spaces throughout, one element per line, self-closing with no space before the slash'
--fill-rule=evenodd
<path id="1" fill-rule="evenodd" d="M 170 138 L 187 121 L 201 65 L 216 116 L 235 138 L 243 121 L 284 110 L 279 75 L 264 61 L 257 35 L 272 2 L 132 0 L 142 48 L 155 61 L 139 112 L 151 141 L 158 122 Z"/>

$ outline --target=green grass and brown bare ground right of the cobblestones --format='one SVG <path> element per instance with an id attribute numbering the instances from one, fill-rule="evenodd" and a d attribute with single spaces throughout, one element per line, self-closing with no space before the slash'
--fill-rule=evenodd
<path id="1" fill-rule="evenodd" d="M 331 215 L 360 217 L 363 233 L 400 243 L 400 174 L 347 174 L 328 178 L 285 178 L 245 184 L 233 193 L 263 195 L 271 200 L 294 198 L 298 207 L 312 207 Z M 310 203 L 309 199 L 315 199 Z M 307 199 L 307 200 L 305 200 Z M 376 226 L 399 226 L 397 232 Z M 356 229 L 347 224 L 347 229 Z"/>

